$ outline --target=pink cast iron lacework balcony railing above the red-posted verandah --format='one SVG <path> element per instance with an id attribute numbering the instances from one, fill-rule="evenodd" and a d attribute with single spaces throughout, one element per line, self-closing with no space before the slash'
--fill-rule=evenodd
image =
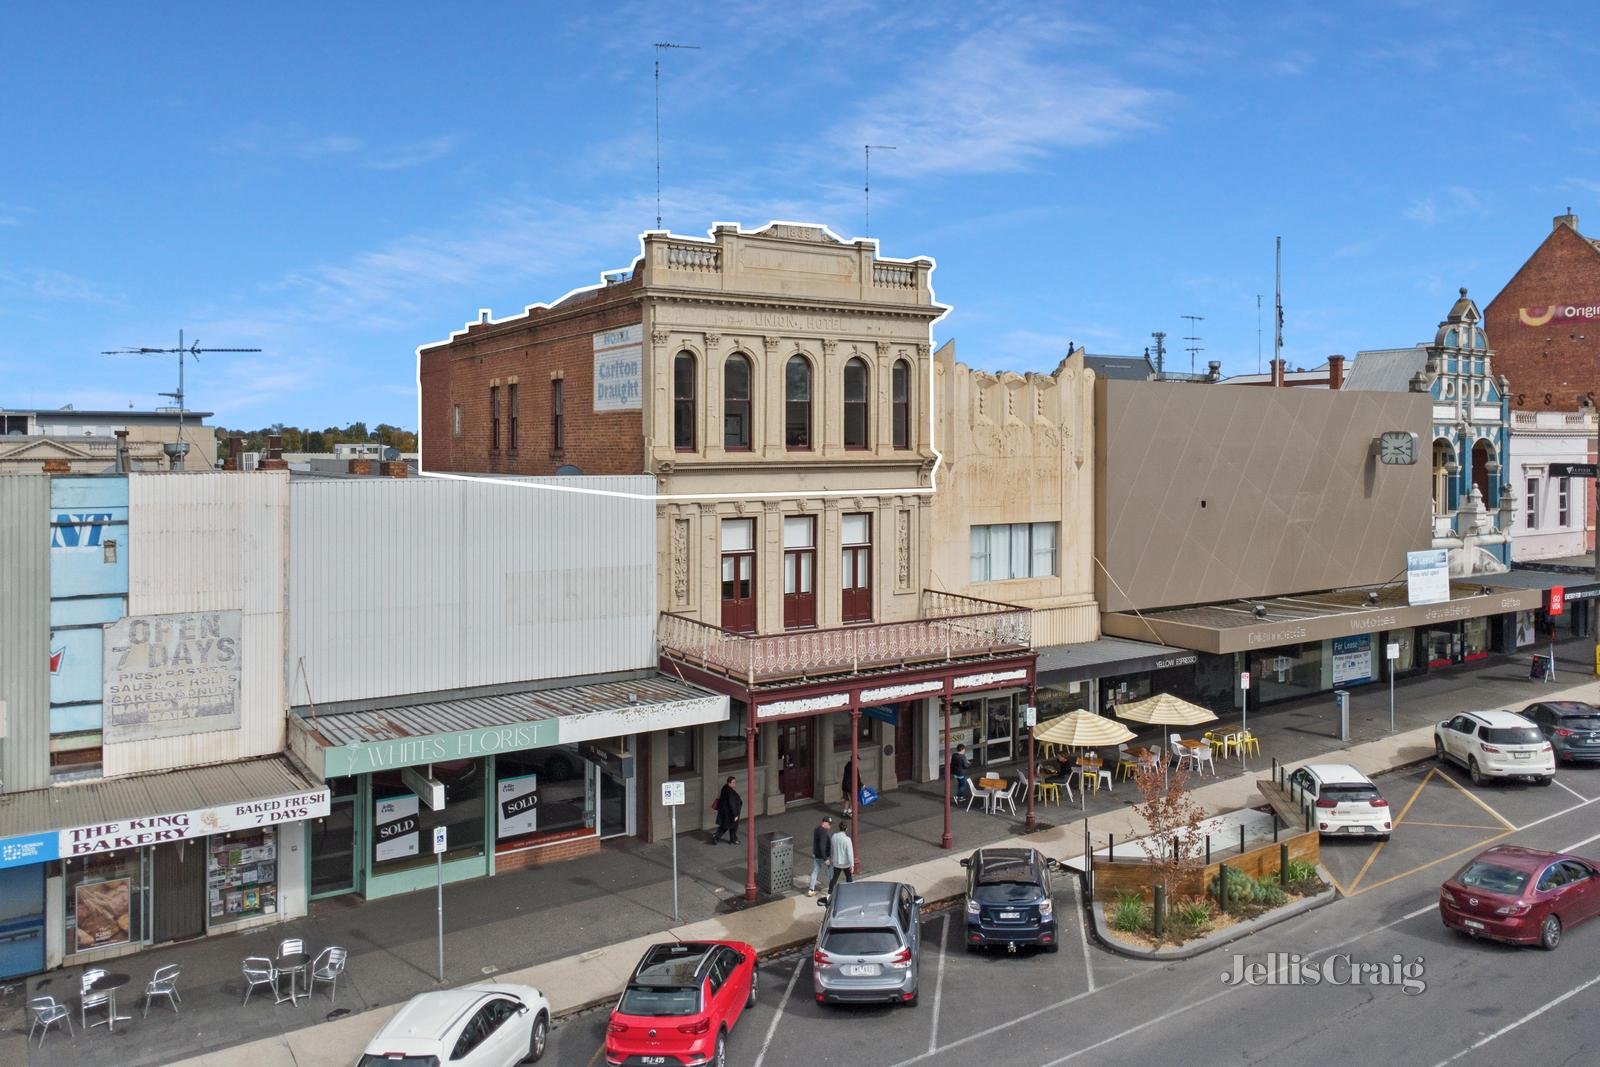
<path id="1" fill-rule="evenodd" d="M 656 640 L 662 654 L 749 686 L 982 659 L 1032 645 L 1029 608 L 933 589 L 922 590 L 918 608 L 918 617 L 904 622 L 765 635 L 662 613 Z"/>

